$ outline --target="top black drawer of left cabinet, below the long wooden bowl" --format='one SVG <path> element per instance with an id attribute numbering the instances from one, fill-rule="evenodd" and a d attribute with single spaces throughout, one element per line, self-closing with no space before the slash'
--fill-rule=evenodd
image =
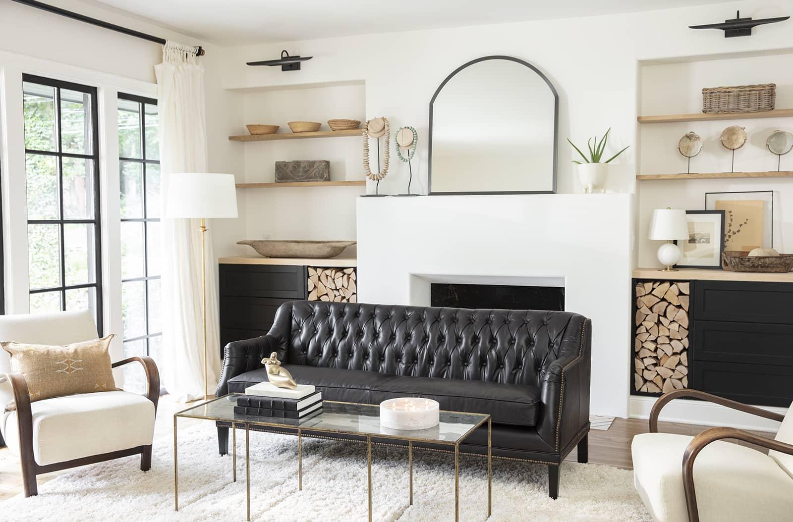
<path id="1" fill-rule="evenodd" d="M 304 266 L 220 265 L 220 295 L 305 299 Z"/>

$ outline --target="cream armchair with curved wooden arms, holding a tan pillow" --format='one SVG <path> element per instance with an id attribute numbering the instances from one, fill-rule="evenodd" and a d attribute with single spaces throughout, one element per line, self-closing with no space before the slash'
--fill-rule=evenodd
<path id="1" fill-rule="evenodd" d="M 69 345 L 96 339 L 88 310 L 0 316 L 0 341 Z M 159 373 L 149 357 L 113 363 L 143 364 L 147 395 L 100 391 L 30 402 L 25 377 L 10 373 L 10 356 L 0 350 L 0 431 L 19 455 L 25 497 L 36 495 L 36 475 L 140 454 L 140 469 L 151 468 L 151 440 L 159 399 Z M 16 410 L 6 406 L 16 401 Z"/>

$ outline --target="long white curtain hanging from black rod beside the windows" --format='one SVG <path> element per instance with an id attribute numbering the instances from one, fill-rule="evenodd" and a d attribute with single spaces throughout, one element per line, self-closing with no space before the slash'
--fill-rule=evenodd
<path id="1" fill-rule="evenodd" d="M 168 41 L 155 67 L 159 105 L 162 200 L 170 173 L 207 172 L 204 67 L 195 48 Z M 165 211 L 163 208 L 163 216 Z M 163 385 L 182 402 L 204 398 L 201 232 L 198 219 L 162 220 Z M 209 227 L 211 229 L 211 225 Z M 206 242 L 208 390 L 220 373 L 217 284 L 212 242 Z"/>

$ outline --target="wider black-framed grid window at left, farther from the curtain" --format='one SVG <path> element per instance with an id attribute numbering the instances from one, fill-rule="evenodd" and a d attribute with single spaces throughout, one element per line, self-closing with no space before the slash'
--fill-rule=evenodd
<path id="1" fill-rule="evenodd" d="M 90 308 L 102 335 L 97 90 L 22 80 L 30 311 Z"/>

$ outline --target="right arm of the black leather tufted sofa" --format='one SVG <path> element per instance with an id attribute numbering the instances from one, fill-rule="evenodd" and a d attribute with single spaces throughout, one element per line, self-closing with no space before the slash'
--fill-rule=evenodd
<path id="1" fill-rule="evenodd" d="M 567 326 L 559 356 L 542 372 L 542 410 L 537 432 L 554 452 L 565 448 L 589 422 L 592 320 L 577 316 Z"/>

